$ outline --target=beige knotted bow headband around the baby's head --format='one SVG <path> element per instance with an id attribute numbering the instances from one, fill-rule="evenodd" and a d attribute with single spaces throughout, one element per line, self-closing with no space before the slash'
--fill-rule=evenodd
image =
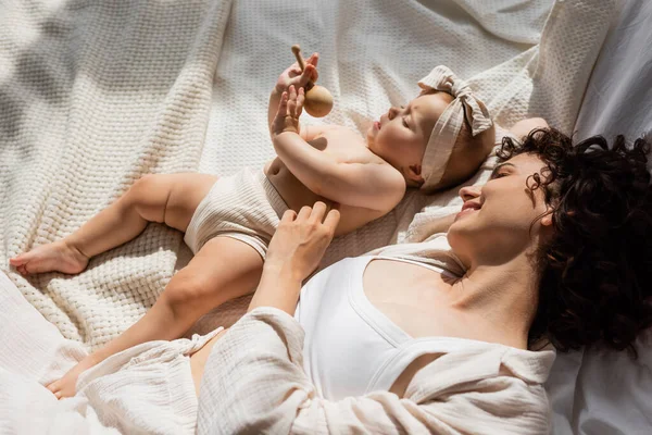
<path id="1" fill-rule="evenodd" d="M 436 66 L 430 74 L 418 82 L 424 91 L 440 90 L 450 94 L 454 100 L 446 108 L 428 139 L 422 163 L 425 183 L 422 189 L 431 190 L 441 181 L 448 161 L 464 123 L 464 115 L 471 124 L 472 136 L 491 128 L 489 111 L 480 105 L 471 87 L 459 78 L 448 66 Z"/>

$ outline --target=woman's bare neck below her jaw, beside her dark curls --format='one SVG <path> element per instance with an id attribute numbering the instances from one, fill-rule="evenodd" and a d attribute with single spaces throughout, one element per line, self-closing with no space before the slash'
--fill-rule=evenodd
<path id="1" fill-rule="evenodd" d="M 488 340 L 527 348 L 537 311 L 538 276 L 526 254 L 500 265 L 472 265 L 452 289 L 453 306 L 477 314 L 487 325 Z"/>

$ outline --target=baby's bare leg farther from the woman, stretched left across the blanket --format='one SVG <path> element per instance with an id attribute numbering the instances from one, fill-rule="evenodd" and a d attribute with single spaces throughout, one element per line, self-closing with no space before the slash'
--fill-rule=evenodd
<path id="1" fill-rule="evenodd" d="M 208 174 L 146 175 L 125 195 L 62 240 L 10 260 L 22 274 L 79 273 L 88 260 L 138 236 L 148 222 L 185 232 L 217 177 Z"/>

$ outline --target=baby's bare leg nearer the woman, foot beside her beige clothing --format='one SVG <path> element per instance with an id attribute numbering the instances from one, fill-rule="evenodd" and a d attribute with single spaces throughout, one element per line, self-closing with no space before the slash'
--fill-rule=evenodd
<path id="1" fill-rule="evenodd" d="M 263 259 L 255 249 L 228 237 L 209 240 L 172 277 L 156 303 L 131 327 L 48 385 L 58 398 L 75 394 L 77 376 L 108 357 L 141 343 L 180 337 L 213 308 L 255 290 Z"/>

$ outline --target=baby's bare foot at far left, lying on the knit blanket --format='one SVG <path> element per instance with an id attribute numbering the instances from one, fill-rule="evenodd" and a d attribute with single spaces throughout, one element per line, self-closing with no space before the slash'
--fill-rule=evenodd
<path id="1" fill-rule="evenodd" d="M 75 274 L 86 269 L 88 257 L 65 240 L 39 246 L 9 260 L 22 275 L 58 271 Z"/>

